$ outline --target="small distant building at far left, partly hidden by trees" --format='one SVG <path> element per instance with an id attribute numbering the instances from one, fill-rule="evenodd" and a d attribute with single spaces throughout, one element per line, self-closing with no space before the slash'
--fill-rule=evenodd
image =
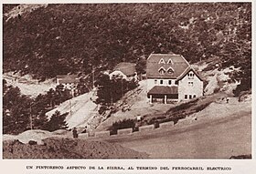
<path id="1" fill-rule="evenodd" d="M 59 75 L 56 77 L 57 85 L 63 85 L 64 88 L 74 92 L 75 88 L 80 82 L 80 78 L 77 75 Z"/>

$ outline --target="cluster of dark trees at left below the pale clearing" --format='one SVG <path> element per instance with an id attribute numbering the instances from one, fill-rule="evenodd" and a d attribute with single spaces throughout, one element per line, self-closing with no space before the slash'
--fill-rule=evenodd
<path id="1" fill-rule="evenodd" d="M 68 128 L 65 122 L 68 113 L 61 115 L 56 111 L 51 118 L 46 116 L 49 110 L 71 97 L 68 90 L 60 89 L 61 86 L 50 89 L 47 94 L 33 99 L 3 80 L 3 133 L 18 134 L 30 128 L 48 131 Z"/>

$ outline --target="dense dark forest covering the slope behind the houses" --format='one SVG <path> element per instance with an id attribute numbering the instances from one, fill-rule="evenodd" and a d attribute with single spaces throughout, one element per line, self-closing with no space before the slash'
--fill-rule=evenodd
<path id="1" fill-rule="evenodd" d="M 143 72 L 144 57 L 172 51 L 241 67 L 241 88 L 251 88 L 251 3 L 48 5 L 4 17 L 3 41 L 4 71 L 36 78 L 99 74 L 122 61 Z"/>

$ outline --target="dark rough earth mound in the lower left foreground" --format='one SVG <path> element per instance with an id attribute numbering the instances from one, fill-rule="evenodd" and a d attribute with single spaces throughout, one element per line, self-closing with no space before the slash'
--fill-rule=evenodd
<path id="1" fill-rule="evenodd" d="M 7 140 L 3 159 L 144 159 L 145 153 L 103 141 L 72 138 L 46 138 L 44 145 Z"/>

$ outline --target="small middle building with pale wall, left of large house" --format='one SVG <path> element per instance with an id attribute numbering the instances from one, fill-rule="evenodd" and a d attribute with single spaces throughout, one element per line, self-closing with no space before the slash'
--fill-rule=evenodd
<path id="1" fill-rule="evenodd" d="M 116 65 L 113 68 L 112 73 L 110 74 L 110 78 L 112 77 L 122 77 L 126 80 L 132 80 L 133 78 L 137 78 L 136 73 L 136 64 L 134 63 L 128 63 L 128 62 L 122 62 Z"/>

